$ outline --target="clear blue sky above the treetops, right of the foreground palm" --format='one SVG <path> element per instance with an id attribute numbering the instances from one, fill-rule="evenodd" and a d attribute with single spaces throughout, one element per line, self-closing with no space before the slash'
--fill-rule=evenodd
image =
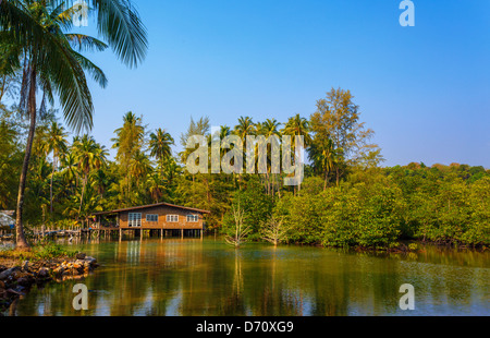
<path id="1" fill-rule="evenodd" d="M 385 166 L 490 168 L 490 1 L 135 0 L 149 34 L 144 64 L 91 56 L 94 136 L 111 146 L 132 110 L 179 140 L 191 117 L 232 126 L 241 116 L 309 117 L 332 87 L 350 89 Z M 93 27 L 86 28 L 91 33 Z"/>

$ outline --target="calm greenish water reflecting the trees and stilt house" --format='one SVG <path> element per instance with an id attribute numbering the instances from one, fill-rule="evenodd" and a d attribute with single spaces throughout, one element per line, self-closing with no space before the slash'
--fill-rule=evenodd
<path id="1" fill-rule="evenodd" d="M 373 255 L 222 241 L 139 240 L 76 244 L 101 263 L 86 278 L 96 316 L 490 315 L 489 254 L 440 251 Z M 77 281 L 79 282 L 79 281 Z M 81 315 L 75 281 L 33 289 L 12 315 Z M 402 311 L 400 286 L 415 287 Z"/>

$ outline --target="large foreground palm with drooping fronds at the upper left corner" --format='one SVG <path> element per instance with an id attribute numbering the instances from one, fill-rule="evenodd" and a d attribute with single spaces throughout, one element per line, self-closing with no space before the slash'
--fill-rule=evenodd
<path id="1" fill-rule="evenodd" d="M 3 0 L 0 2 L 0 41 L 12 46 L 16 63 L 23 62 L 21 108 L 27 112 L 30 125 L 24 164 L 19 184 L 16 207 L 16 246 L 27 249 L 23 231 L 22 210 L 28 164 L 37 118 L 37 92 L 51 104 L 57 94 L 70 128 L 79 132 L 93 126 L 93 101 L 85 72 L 102 87 L 103 72 L 78 51 L 103 50 L 110 46 L 123 63 L 136 67 L 147 50 L 146 31 L 130 0 L 89 0 L 97 16 L 98 33 L 108 43 L 82 34 L 65 34 L 76 14 L 74 1 Z M 65 5 L 68 10 L 63 10 Z M 76 51 L 75 49 L 78 49 Z M 22 60 L 22 61 L 21 61 Z M 45 107 L 45 100 L 40 105 Z"/>

